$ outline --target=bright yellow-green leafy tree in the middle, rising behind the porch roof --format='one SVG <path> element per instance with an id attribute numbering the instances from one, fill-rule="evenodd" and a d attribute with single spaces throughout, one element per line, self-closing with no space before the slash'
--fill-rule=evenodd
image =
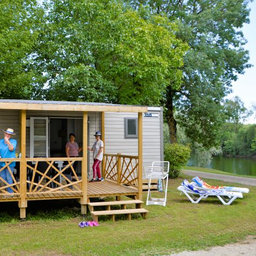
<path id="1" fill-rule="evenodd" d="M 188 47 L 177 26 L 147 15 L 118 1 L 46 1 L 36 61 L 47 86 L 36 97 L 158 105 L 171 77 L 180 86 Z"/>

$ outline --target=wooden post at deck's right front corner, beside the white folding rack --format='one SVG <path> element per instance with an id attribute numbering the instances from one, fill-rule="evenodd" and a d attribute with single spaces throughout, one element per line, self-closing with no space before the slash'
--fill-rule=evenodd
<path id="1" fill-rule="evenodd" d="M 138 190 L 140 200 L 142 200 L 142 147 L 142 113 L 138 113 Z"/>

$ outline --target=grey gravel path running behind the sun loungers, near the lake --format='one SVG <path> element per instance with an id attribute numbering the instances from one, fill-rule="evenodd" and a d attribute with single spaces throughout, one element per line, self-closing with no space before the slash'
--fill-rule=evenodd
<path id="1" fill-rule="evenodd" d="M 256 179 L 253 178 L 245 178 L 245 177 L 238 177 L 233 175 L 224 175 L 224 174 L 215 174 L 215 173 L 208 173 L 208 172 L 198 172 L 198 171 L 190 171 L 190 170 L 183 170 L 184 174 L 189 176 L 199 176 L 200 178 L 207 178 L 207 179 L 214 179 L 214 180 L 222 180 L 225 182 L 235 182 L 247 186 L 256 186 Z"/>

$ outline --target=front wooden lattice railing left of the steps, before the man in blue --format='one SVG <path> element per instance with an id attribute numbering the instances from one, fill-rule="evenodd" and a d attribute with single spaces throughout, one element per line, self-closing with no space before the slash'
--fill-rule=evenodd
<path id="1" fill-rule="evenodd" d="M 65 196 L 67 193 L 78 192 L 82 194 L 82 179 L 79 179 L 73 164 L 75 161 L 82 161 L 82 157 L 76 158 L 26 158 L 26 180 L 22 180 L 20 165 L 21 158 L 0 159 L 4 166 L 0 166 L 0 173 L 7 168 L 11 174 L 13 183 L 7 183 L 1 176 L 0 195 L 21 196 L 20 184 L 26 183 L 26 197 L 52 195 Z M 9 167 L 16 162 L 14 175 Z M 75 181 L 71 177 L 75 177 Z M 19 180 L 19 181 L 18 181 Z M 6 188 L 11 188 L 13 193 L 8 193 Z"/>

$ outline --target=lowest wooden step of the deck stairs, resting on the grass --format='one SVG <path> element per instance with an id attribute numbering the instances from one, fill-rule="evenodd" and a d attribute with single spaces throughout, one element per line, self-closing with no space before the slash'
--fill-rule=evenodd
<path id="1" fill-rule="evenodd" d="M 113 221 L 115 221 L 116 214 L 127 214 L 128 219 L 131 220 L 132 213 L 141 213 L 142 218 L 145 218 L 146 214 L 148 213 L 148 210 L 139 208 L 139 209 L 124 209 L 124 210 L 93 211 L 93 212 L 91 212 L 92 218 L 95 221 L 98 221 L 99 215 L 111 215 L 111 219 Z"/>

